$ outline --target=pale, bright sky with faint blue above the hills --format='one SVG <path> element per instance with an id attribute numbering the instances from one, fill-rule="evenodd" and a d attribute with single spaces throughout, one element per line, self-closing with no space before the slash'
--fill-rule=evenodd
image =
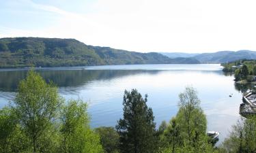
<path id="1" fill-rule="evenodd" d="M 256 50 L 255 0 L 0 0 L 0 37 L 137 52 Z"/>

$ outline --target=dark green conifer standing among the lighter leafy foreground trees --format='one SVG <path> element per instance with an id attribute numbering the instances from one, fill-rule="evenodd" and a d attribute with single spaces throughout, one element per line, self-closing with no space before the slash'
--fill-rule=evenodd
<path id="1" fill-rule="evenodd" d="M 124 119 L 117 122 L 120 151 L 126 153 L 152 153 L 156 151 L 156 124 L 152 109 L 136 89 L 124 92 Z"/>

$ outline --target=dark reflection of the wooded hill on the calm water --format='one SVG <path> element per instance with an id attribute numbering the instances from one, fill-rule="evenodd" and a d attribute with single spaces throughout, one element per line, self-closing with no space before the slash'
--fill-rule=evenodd
<path id="1" fill-rule="evenodd" d="M 110 80 L 120 78 L 126 75 L 134 75 L 139 73 L 156 74 L 157 70 L 51 70 L 38 71 L 40 75 L 47 81 L 53 81 L 59 87 L 81 86 L 93 80 Z M 16 91 L 18 82 L 23 80 L 27 75 L 27 71 L 0 71 L 0 90 Z"/>

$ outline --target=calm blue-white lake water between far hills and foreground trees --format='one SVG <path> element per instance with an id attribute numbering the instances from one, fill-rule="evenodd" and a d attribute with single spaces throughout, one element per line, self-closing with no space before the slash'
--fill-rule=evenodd
<path id="1" fill-rule="evenodd" d="M 155 121 L 169 122 L 177 113 L 178 95 L 186 86 L 197 88 L 201 107 L 208 119 L 208 130 L 221 132 L 220 141 L 240 118 L 242 94 L 233 76 L 224 75 L 221 65 L 111 65 L 38 69 L 46 81 L 59 86 L 65 99 L 89 103 L 91 126 L 115 126 L 122 118 L 124 90 L 137 88 L 148 95 Z M 26 69 L 0 70 L 0 107 L 8 105 Z M 229 97 L 231 95 L 231 97 Z"/>

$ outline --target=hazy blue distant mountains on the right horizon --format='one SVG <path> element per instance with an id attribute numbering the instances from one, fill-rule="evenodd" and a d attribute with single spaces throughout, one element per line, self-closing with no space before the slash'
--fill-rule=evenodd
<path id="1" fill-rule="evenodd" d="M 201 63 L 227 63 L 239 59 L 256 59 L 256 52 L 251 50 L 221 51 L 214 53 L 203 53 L 193 56 Z"/>

